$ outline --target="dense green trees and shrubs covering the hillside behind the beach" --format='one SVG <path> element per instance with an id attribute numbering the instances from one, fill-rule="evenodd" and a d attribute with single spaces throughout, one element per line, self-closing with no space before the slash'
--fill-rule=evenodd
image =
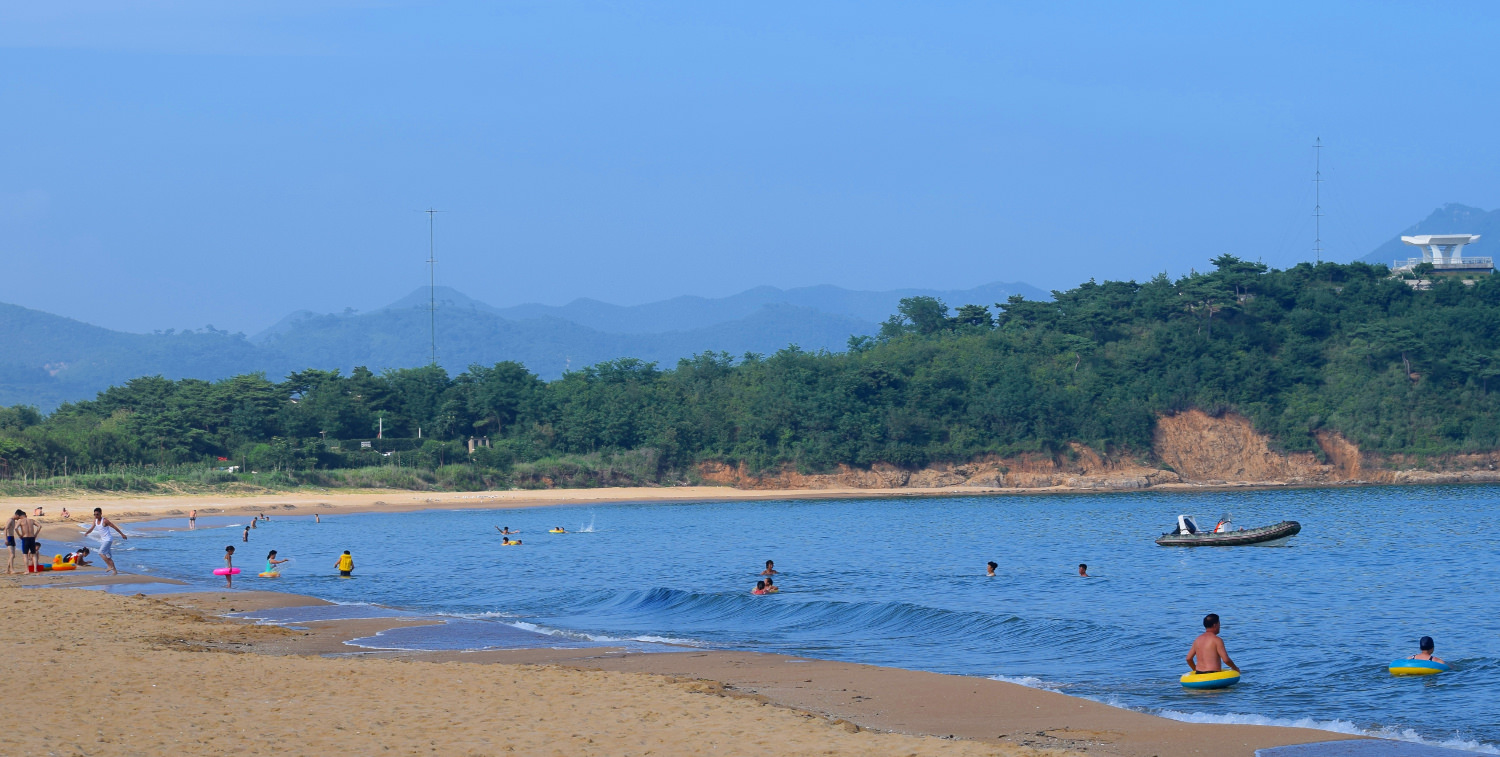
<path id="1" fill-rule="evenodd" d="M 386 483 L 476 487 L 675 481 L 708 460 L 915 468 L 1071 442 L 1144 459 L 1156 418 L 1188 408 L 1244 414 L 1290 451 L 1317 453 L 1324 429 L 1376 453 L 1500 448 L 1500 280 L 1413 291 L 1360 262 L 1214 265 L 1052 301 L 914 297 L 838 354 L 614 360 L 550 382 L 516 363 L 138 378 L 46 417 L 0 411 L 0 472 L 112 487 L 120 471 L 350 483 L 339 471 L 386 469 Z"/>

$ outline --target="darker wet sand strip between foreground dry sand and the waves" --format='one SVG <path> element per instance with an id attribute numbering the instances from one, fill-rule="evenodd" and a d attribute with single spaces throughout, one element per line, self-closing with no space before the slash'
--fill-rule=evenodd
<path id="1" fill-rule="evenodd" d="M 6 582 L 20 586 L 86 588 L 114 583 L 177 582 L 150 576 L 100 576 L 99 571 L 26 576 Z M 180 585 L 180 583 L 177 583 Z M 171 607 L 237 631 L 212 639 L 178 640 L 196 652 L 249 654 L 266 658 L 338 658 L 354 663 L 399 661 L 424 664 L 440 678 L 462 676 L 466 669 L 546 666 L 540 670 L 574 670 L 662 681 L 694 694 L 772 708 L 813 720 L 846 735 L 873 732 L 918 738 L 920 745 L 962 745 L 1020 750 L 982 754 L 1110 754 L 1120 757 L 1190 757 L 1226 754 L 1251 757 L 1257 750 L 1368 739 L 1317 729 L 1248 724 L 1182 723 L 1094 700 L 1029 688 L 988 678 L 927 673 L 896 667 L 840 663 L 764 652 L 681 648 L 672 652 L 638 652 L 609 643 L 574 649 L 516 648 L 486 651 L 382 651 L 345 642 L 382 630 L 430 624 L 430 618 L 356 618 L 258 624 L 225 618 L 230 612 L 330 606 L 315 597 L 276 591 L 202 591 L 180 585 L 182 592 L 124 597 L 110 603 L 148 603 Z M 24 589 L 32 594 L 32 589 Z M 45 589 L 36 591 L 38 595 Z M 48 592 L 51 594 L 51 592 Z M 94 594 L 94 592 L 66 592 Z M 76 612 L 76 610 L 75 610 Z M 261 667 L 270 666 L 264 663 Z M 456 666 L 456 667 L 453 667 Z M 428 673 L 422 673 L 428 678 Z M 927 754 L 903 748 L 900 754 Z M 1060 751 L 1052 751 L 1060 750 Z"/>

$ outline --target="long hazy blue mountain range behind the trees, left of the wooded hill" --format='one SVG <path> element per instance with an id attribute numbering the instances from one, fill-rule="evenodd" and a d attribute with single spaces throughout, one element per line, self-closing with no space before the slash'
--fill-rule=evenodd
<path id="1" fill-rule="evenodd" d="M 450 372 L 516 360 L 543 378 L 603 360 L 636 357 L 663 366 L 705 351 L 770 354 L 788 345 L 844 349 L 873 334 L 903 297 L 951 306 L 1044 300 L 1024 283 L 963 291 L 861 292 L 837 286 L 759 286 L 730 297 L 676 297 L 640 306 L 574 300 L 564 306 L 495 307 L 438 288 L 438 363 Z M 423 366 L 430 357 L 426 288 L 369 313 L 300 310 L 246 337 L 226 331 L 130 334 L 14 304 L 0 304 L 0 405 L 52 409 L 135 376 L 218 379 L 306 367 L 372 370 Z"/>

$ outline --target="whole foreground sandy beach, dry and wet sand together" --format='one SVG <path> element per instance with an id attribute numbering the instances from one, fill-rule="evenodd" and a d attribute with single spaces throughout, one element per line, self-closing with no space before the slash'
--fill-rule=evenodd
<path id="1" fill-rule="evenodd" d="M 614 648 L 370 652 L 410 619 L 252 625 L 318 600 L 278 592 L 116 595 L 6 577 L 14 681 L 42 705 L 6 754 L 903 754 L 1251 756 L 1335 741 L 1185 724 L 1014 684 L 748 652 Z M 352 652 L 352 654 L 351 654 Z M 330 657 L 338 655 L 338 657 Z"/>

